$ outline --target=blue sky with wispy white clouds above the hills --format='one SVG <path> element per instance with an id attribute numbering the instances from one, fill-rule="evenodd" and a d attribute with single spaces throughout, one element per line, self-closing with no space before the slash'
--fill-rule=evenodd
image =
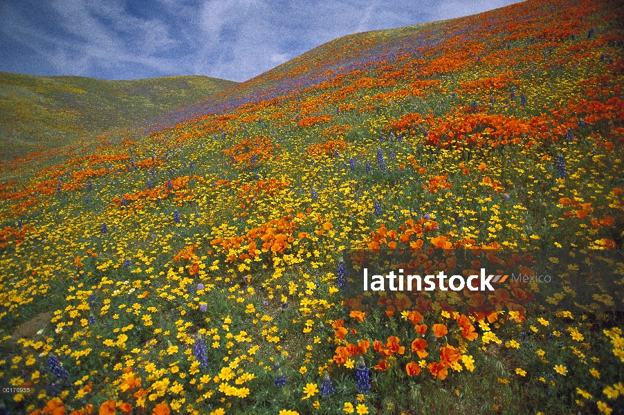
<path id="1" fill-rule="evenodd" d="M 0 71 L 244 81 L 331 39 L 517 0 L 3 0 Z"/>

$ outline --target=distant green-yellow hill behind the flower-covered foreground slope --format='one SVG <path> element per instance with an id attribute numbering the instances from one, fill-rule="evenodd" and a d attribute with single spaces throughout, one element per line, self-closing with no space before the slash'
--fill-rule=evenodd
<path id="1" fill-rule="evenodd" d="M 109 81 L 0 73 L 0 160 L 147 120 L 236 85 L 205 76 Z"/>

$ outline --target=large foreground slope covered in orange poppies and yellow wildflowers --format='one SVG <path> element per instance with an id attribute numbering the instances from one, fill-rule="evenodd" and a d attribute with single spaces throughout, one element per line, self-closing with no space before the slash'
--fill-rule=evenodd
<path id="1" fill-rule="evenodd" d="M 623 15 L 349 35 L 3 163 L 0 413 L 624 413 Z M 551 281 L 354 292 L 392 252 Z"/>

